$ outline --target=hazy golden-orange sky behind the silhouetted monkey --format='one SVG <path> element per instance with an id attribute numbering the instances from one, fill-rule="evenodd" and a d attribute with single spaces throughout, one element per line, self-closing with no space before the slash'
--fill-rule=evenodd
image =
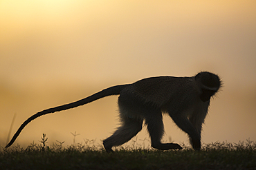
<path id="1" fill-rule="evenodd" d="M 256 140 L 256 1 L 0 1 L 0 146 L 38 111 L 149 76 L 219 74 L 205 143 Z M 117 96 L 42 116 L 17 143 L 107 138 Z M 188 143 L 165 116 L 164 141 Z M 145 129 L 139 139 L 147 137 Z"/>

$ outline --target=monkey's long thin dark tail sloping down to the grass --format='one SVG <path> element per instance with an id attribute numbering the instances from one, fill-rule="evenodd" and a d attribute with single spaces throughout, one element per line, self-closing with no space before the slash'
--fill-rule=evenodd
<path id="1" fill-rule="evenodd" d="M 69 104 L 66 104 L 66 105 L 61 105 L 61 106 L 53 107 L 53 108 L 50 108 L 50 109 L 45 109 L 43 111 L 39 111 L 37 114 L 34 114 L 30 118 L 28 118 L 24 123 L 22 123 L 22 125 L 16 131 L 15 135 L 12 137 L 12 140 L 10 140 L 8 145 L 6 145 L 6 148 L 10 147 L 10 145 L 12 145 L 12 143 L 15 142 L 16 138 L 19 136 L 19 134 L 21 133 L 22 129 L 24 129 L 24 127 L 28 123 L 30 123 L 32 120 L 34 120 L 35 118 L 38 118 L 39 116 L 42 116 L 44 114 L 51 114 L 51 113 L 54 113 L 56 111 L 72 109 L 74 107 L 85 105 L 87 103 L 91 103 L 94 100 L 98 100 L 99 98 L 104 98 L 106 96 L 118 95 L 118 94 L 120 94 L 122 89 L 125 89 L 125 87 L 127 87 L 127 86 L 129 86 L 129 84 L 127 84 L 127 85 L 116 85 L 116 86 L 113 86 L 113 87 L 109 87 L 107 89 L 103 89 L 102 91 L 100 91 L 98 93 L 95 93 L 95 94 L 93 94 L 91 96 L 88 96 L 86 98 L 83 98 L 81 100 L 77 100 L 77 101 L 75 101 L 73 103 L 69 103 Z"/>

